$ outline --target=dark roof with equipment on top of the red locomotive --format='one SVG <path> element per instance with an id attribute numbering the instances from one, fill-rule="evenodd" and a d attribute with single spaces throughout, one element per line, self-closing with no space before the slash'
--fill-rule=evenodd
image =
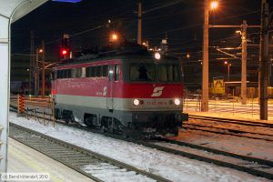
<path id="1" fill-rule="evenodd" d="M 89 50 L 81 53 L 81 56 L 65 59 L 57 66 L 69 66 L 69 65 L 77 65 L 84 64 L 102 60 L 112 60 L 112 59 L 142 59 L 142 60 L 152 60 L 154 58 L 154 54 L 147 51 L 147 47 L 143 45 L 118 45 L 116 47 L 106 47 L 103 50 Z M 177 57 L 173 56 L 163 56 L 164 59 L 167 60 L 178 60 Z"/>

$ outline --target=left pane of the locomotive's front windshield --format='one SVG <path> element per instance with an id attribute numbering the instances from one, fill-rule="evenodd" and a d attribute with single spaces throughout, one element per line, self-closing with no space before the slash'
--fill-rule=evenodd
<path id="1" fill-rule="evenodd" d="M 130 80 L 132 81 L 155 81 L 156 66 L 152 64 L 130 64 Z"/>

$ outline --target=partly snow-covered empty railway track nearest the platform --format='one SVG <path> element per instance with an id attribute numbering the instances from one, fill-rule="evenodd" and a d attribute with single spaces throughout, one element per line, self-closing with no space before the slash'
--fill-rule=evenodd
<path id="1" fill-rule="evenodd" d="M 68 144 L 51 136 L 10 123 L 9 136 L 20 143 L 52 157 L 94 181 L 169 181 L 116 159 L 82 147 Z"/>

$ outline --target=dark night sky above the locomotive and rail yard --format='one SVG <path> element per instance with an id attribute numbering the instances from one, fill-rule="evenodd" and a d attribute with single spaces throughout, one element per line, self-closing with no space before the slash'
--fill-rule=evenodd
<path id="1" fill-rule="evenodd" d="M 109 28 L 106 21 L 116 21 L 116 29 L 128 40 L 136 40 L 137 10 L 136 0 L 83 0 L 78 4 L 48 2 L 12 25 L 12 53 L 30 52 L 30 31 L 35 30 L 35 45 L 45 40 L 46 55 L 57 56 L 59 38 L 63 33 L 72 35 L 73 50 L 95 45 L 106 45 Z M 159 45 L 161 39 L 168 37 L 169 48 L 177 53 L 192 53 L 201 50 L 203 1 L 181 0 L 177 5 L 168 5 L 175 0 L 143 0 L 143 39 L 151 45 Z M 210 23 L 218 25 L 240 25 L 243 19 L 248 25 L 258 25 L 260 1 L 258 0 L 220 0 L 220 7 L 210 14 Z M 272 7 L 273 5 L 271 5 Z M 76 35 L 82 31 L 85 34 Z M 210 31 L 211 45 L 230 36 L 234 29 L 213 29 Z M 250 30 L 249 33 L 258 32 Z M 74 35 L 74 36 L 73 36 Z M 217 40 L 217 41 L 216 41 Z M 239 37 L 238 37 L 239 40 Z M 214 42 L 215 41 L 215 42 Z"/>

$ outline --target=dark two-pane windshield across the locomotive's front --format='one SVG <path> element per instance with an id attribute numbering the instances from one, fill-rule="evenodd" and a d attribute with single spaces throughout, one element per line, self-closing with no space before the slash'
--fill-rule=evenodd
<path id="1" fill-rule="evenodd" d="M 148 82 L 149 81 L 178 82 L 180 81 L 178 65 L 131 63 L 130 80 Z"/>

